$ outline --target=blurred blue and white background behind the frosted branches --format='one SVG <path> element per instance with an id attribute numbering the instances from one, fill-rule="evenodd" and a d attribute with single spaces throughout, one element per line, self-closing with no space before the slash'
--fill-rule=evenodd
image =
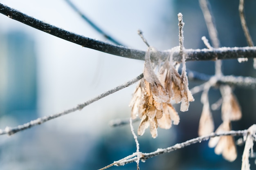
<path id="1" fill-rule="evenodd" d="M 177 13 L 182 12 L 185 48 L 205 48 L 206 24 L 198 1 L 189 0 L 72 0 L 88 17 L 121 43 L 146 50 L 137 35 L 141 29 L 149 44 L 159 50 L 178 45 Z M 89 38 L 103 40 L 64 0 L 1 0 L 1 3 L 49 24 Z M 210 0 L 221 46 L 247 46 L 240 26 L 239 0 Z M 256 41 L 256 1 L 245 1 L 245 15 L 252 39 Z M 117 57 L 86 49 L 0 15 L 0 128 L 17 126 L 37 117 L 61 112 L 99 95 L 142 73 L 143 61 Z M 187 62 L 191 70 L 214 74 L 214 62 Z M 252 60 L 239 64 L 223 61 L 225 75 L 255 77 Z M 202 82 L 190 82 L 190 88 Z M 29 130 L 0 137 L 1 170 L 85 170 L 99 169 L 136 150 L 129 126 L 113 128 L 109 121 L 130 116 L 128 104 L 136 85 L 95 102 L 81 111 L 51 120 Z M 246 129 L 256 121 L 256 94 L 235 88 L 243 118 L 234 130 Z M 180 114 L 180 124 L 158 129 L 152 139 L 149 130 L 139 137 L 140 151 L 152 152 L 198 137 L 202 111 L 200 93 L 194 95 L 189 111 Z M 209 92 L 210 102 L 220 98 Z M 180 106 L 177 105 L 178 110 Z M 216 127 L 220 110 L 213 111 Z M 137 129 L 138 123 L 134 124 Z M 229 163 L 215 155 L 207 142 L 148 159 L 141 169 L 157 170 L 239 170 L 244 146 Z M 256 168 L 251 159 L 251 168 Z M 135 169 L 131 163 L 111 170 Z"/>

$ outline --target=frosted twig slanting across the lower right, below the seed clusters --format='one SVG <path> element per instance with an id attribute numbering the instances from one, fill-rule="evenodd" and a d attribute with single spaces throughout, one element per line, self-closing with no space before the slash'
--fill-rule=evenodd
<path id="1" fill-rule="evenodd" d="M 168 147 L 168 148 L 159 148 L 154 152 L 150 152 L 150 153 L 141 153 L 141 157 L 140 160 L 141 161 L 146 161 L 147 159 L 151 158 L 151 157 L 155 157 L 164 153 L 168 153 L 168 152 L 172 152 L 174 150 L 178 150 L 181 148 L 185 148 L 186 146 L 189 146 L 191 144 L 196 144 L 196 143 L 201 143 L 202 141 L 206 141 L 209 140 L 209 138 L 212 137 L 218 137 L 218 136 L 227 136 L 227 135 L 231 135 L 231 136 L 245 136 L 247 135 L 248 130 L 231 130 L 228 132 L 218 132 L 218 133 L 211 133 L 209 135 L 205 135 L 202 137 L 197 137 L 194 139 L 190 139 L 188 141 L 182 142 L 180 144 L 175 144 L 174 146 Z M 133 156 L 133 157 L 132 157 Z M 128 163 L 132 163 L 135 162 L 137 160 L 137 157 L 135 156 L 135 154 L 129 155 L 128 159 L 121 159 L 119 161 L 115 161 L 114 163 L 112 163 L 111 165 L 115 165 L 115 166 L 123 166 L 125 164 Z"/>

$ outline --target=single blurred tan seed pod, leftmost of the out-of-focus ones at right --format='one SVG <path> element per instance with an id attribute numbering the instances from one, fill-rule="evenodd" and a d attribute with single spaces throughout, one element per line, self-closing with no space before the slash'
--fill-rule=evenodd
<path id="1" fill-rule="evenodd" d="M 198 135 L 209 135 L 214 130 L 214 123 L 209 104 L 204 104 L 199 121 Z"/>

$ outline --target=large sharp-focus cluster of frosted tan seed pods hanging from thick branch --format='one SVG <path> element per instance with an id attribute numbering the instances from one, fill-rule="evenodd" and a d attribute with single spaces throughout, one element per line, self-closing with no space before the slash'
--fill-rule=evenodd
<path id="1" fill-rule="evenodd" d="M 156 49 L 148 47 L 144 78 L 140 80 L 130 102 L 132 119 L 137 116 L 141 118 L 138 135 L 143 135 L 146 128 L 150 127 L 150 133 L 155 138 L 158 126 L 169 129 L 172 124 L 179 124 L 180 117 L 171 102 L 181 102 L 180 110 L 184 112 L 188 110 L 189 102 L 194 101 L 188 87 L 185 60 L 182 63 L 181 75 L 177 71 L 179 64 L 173 63 L 175 49 L 177 47 L 171 49 L 169 60 L 156 62 Z"/>

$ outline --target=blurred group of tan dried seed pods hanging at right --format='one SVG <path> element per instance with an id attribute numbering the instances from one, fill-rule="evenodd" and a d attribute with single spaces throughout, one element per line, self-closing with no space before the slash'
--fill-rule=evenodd
<path id="1" fill-rule="evenodd" d="M 242 113 L 238 101 L 228 85 L 221 85 L 220 92 L 222 95 L 221 118 L 222 124 L 217 128 L 216 132 L 227 132 L 231 130 L 231 121 L 241 119 Z M 198 133 L 200 136 L 208 135 L 214 130 L 214 123 L 209 107 L 208 91 L 202 93 L 201 101 L 203 103 L 202 115 L 199 122 Z M 209 147 L 215 147 L 215 153 L 222 156 L 228 161 L 234 161 L 237 157 L 236 145 L 234 137 L 221 136 L 211 138 Z"/>

